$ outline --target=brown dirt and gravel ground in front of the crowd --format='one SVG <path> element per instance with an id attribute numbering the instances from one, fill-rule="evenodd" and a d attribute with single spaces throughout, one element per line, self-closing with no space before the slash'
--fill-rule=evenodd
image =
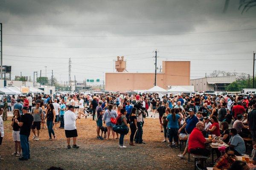
<path id="1" fill-rule="evenodd" d="M 9 117 L 9 120 L 11 118 Z M 29 137 L 31 158 L 19 161 L 14 152 L 12 127 L 10 121 L 4 122 L 5 136 L 0 146 L 0 170 L 47 170 L 51 166 L 62 167 L 64 170 L 109 170 L 109 169 L 147 169 L 147 170 L 192 170 L 193 161 L 177 158 L 179 148 L 169 148 L 160 132 L 158 118 L 146 118 L 143 127 L 143 141 L 146 144 L 129 145 L 129 137 L 125 135 L 124 145 L 119 148 L 119 140 L 96 139 L 96 122 L 91 117 L 77 120 L 77 145 L 79 149 L 67 149 L 64 129 L 56 129 L 57 139 L 47 141 L 47 129 L 41 130 L 40 141 Z M 59 124 L 57 124 L 59 125 Z M 104 126 L 104 125 L 103 125 Z M 112 137 L 112 136 L 111 136 Z M 71 143 L 72 144 L 72 143 Z"/>

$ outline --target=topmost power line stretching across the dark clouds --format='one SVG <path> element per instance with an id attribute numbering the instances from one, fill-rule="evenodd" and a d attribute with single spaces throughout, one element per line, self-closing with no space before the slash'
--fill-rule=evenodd
<path id="1" fill-rule="evenodd" d="M 61 25 L 61 26 L 102 26 L 102 25 L 139 25 L 139 24 L 161 24 L 161 23 L 189 23 L 189 22 L 202 22 L 202 21 L 213 21 L 213 20 L 233 20 L 233 19 L 244 19 L 244 18 L 254 18 L 256 16 L 251 16 L 251 17 L 233 17 L 233 18 L 216 18 L 216 19 L 209 19 L 209 20 L 189 20 L 189 21 L 166 21 L 166 22 L 148 22 L 148 23 L 81 23 L 81 24 L 77 24 L 77 23 L 64 23 L 64 24 L 58 24 L 58 23 L 5 23 L 5 24 L 17 24 L 17 25 Z"/>

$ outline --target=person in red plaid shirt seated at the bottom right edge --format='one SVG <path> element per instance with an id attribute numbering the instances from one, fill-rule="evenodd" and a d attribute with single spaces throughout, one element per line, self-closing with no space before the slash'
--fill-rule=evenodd
<path id="1" fill-rule="evenodd" d="M 212 170 L 227 170 L 234 161 L 237 161 L 234 148 L 226 147 L 225 154 L 216 161 Z"/>

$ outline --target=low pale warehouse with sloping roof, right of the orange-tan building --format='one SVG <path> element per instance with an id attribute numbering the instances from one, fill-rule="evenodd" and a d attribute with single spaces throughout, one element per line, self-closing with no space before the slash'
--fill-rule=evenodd
<path id="1" fill-rule="evenodd" d="M 236 81 L 236 76 L 206 77 L 190 80 L 190 85 L 195 86 L 195 91 L 226 91 L 225 86 Z"/>

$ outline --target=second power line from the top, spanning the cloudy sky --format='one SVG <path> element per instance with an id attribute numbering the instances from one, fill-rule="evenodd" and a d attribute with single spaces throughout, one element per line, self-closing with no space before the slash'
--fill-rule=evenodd
<path id="1" fill-rule="evenodd" d="M 17 35 L 17 36 L 32 36 L 32 37 L 147 37 L 147 36 L 166 36 L 166 35 L 189 35 L 189 34 L 207 34 L 217 32 L 236 32 L 236 31 L 249 31 L 250 29 L 234 29 L 224 31 L 211 31 L 211 32 L 190 32 L 190 33 L 177 33 L 177 34 L 151 34 L 151 35 L 29 35 L 29 34 L 3 34 L 3 35 Z"/>

